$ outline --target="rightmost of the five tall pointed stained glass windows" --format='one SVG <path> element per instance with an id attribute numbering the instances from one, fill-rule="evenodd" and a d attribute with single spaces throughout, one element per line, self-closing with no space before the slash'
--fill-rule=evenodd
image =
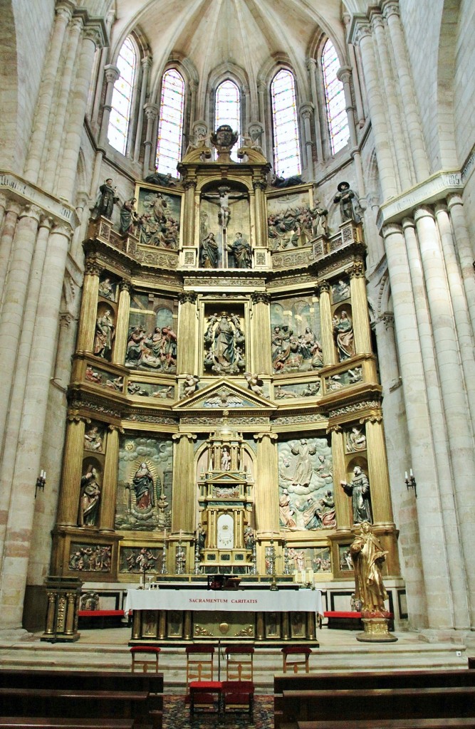
<path id="1" fill-rule="evenodd" d="M 333 155 L 336 155 L 336 152 L 346 147 L 348 137 L 350 136 L 343 84 L 336 76 L 339 67 L 340 62 L 336 55 L 335 47 L 328 40 L 323 48 L 322 70 L 331 152 Z"/>

